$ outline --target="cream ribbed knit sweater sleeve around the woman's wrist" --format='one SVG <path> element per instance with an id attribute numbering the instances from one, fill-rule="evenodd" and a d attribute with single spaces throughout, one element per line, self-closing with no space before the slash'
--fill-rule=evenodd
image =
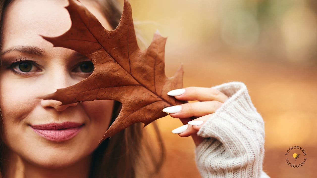
<path id="1" fill-rule="evenodd" d="M 264 121 L 252 104 L 246 85 L 233 81 L 211 88 L 229 99 L 197 132 L 205 137 L 195 149 L 200 174 L 203 178 L 269 178 L 262 171 Z"/>

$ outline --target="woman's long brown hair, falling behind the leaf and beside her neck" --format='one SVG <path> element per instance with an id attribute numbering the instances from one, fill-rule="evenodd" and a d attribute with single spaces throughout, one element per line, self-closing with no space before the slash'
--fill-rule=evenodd
<path id="1" fill-rule="evenodd" d="M 2 16 L 5 8 L 12 0 L 0 0 L 0 34 L 3 31 Z M 120 21 L 122 10 L 117 0 L 94 0 L 98 3 L 100 10 L 104 13 L 107 21 L 113 29 L 117 27 Z M 1 51 L 0 44 L 0 51 Z M 0 60 L 1 66 L 1 60 Z M 112 118 L 110 124 L 117 118 L 122 104 L 114 101 Z M 1 109 L 0 109 L 1 114 Z M 2 122 L 2 115 L 0 115 Z M 92 153 L 92 163 L 90 166 L 91 178 L 101 177 L 153 177 L 159 174 L 162 164 L 165 160 L 165 147 L 156 122 L 152 125 L 156 134 L 155 140 L 146 138 L 146 129 L 143 123 L 136 123 L 120 131 L 110 139 L 104 140 Z M 3 150 L 6 149 L 3 144 L 3 124 L 0 125 L 0 178 L 3 168 Z M 149 127 L 149 126 L 147 126 Z M 151 137 L 152 139 L 152 137 Z M 158 144 L 158 150 L 154 149 L 152 144 Z"/>

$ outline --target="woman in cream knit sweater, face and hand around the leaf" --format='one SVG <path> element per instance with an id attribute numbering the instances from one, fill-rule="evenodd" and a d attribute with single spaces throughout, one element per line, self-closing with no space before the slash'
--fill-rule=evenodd
<path id="1" fill-rule="evenodd" d="M 59 101 L 36 99 L 55 92 L 55 88 L 74 85 L 94 70 L 85 56 L 67 48 L 53 48 L 40 36 L 58 36 L 69 29 L 71 22 L 64 8 L 68 1 L 1 3 L 2 175 L 154 176 L 163 160 L 153 158 L 154 171 L 145 173 L 143 150 L 140 153 L 143 124 L 133 124 L 99 145 L 120 111 L 120 103 L 95 100 L 60 106 Z M 106 29 L 118 25 L 121 12 L 115 1 L 81 3 Z M 163 111 L 185 124 L 172 132 L 192 136 L 203 177 L 266 176 L 262 172 L 264 122 L 242 82 L 212 88 L 187 87 L 168 94 L 180 100 L 200 101 Z M 186 119 L 192 116 L 198 118 Z"/>

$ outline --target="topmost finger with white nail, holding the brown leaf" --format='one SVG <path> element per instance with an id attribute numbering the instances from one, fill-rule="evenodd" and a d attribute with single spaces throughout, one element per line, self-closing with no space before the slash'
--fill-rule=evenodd
<path id="1" fill-rule="evenodd" d="M 229 98 L 223 92 L 220 92 L 219 90 L 215 88 L 206 88 L 206 87 L 197 87 L 197 86 L 190 86 L 187 88 L 172 90 L 168 92 L 167 94 L 170 96 L 175 96 L 176 99 L 187 100 L 187 101 L 216 100 L 221 103 L 224 103 Z"/>

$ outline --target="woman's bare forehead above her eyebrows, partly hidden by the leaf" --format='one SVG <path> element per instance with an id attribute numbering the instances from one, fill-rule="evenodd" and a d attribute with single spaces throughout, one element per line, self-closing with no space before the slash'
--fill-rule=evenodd
<path id="1" fill-rule="evenodd" d="M 92 2 L 81 1 L 106 29 L 110 29 L 105 16 Z M 43 42 L 40 35 L 59 36 L 65 33 L 71 26 L 68 11 L 64 8 L 67 5 L 67 0 L 14 0 L 3 14 L 2 49 Z"/>

